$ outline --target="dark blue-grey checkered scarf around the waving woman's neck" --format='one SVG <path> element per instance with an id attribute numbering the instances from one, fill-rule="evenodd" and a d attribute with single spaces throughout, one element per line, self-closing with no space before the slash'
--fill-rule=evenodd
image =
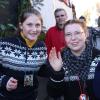
<path id="1" fill-rule="evenodd" d="M 91 45 L 86 44 L 85 50 L 80 56 L 72 54 L 69 48 L 62 52 L 63 67 L 68 69 L 68 75 L 77 75 L 80 80 L 87 80 L 92 62 Z"/>

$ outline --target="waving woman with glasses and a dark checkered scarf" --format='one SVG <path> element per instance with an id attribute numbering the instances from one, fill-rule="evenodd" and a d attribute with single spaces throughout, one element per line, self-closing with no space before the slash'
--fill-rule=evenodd
<path id="1" fill-rule="evenodd" d="M 65 23 L 67 47 L 58 54 L 53 47 L 49 54 L 51 77 L 48 94 L 51 97 L 63 95 L 64 100 L 96 100 L 93 80 L 100 51 L 87 42 L 87 32 L 85 23 L 79 20 Z"/>

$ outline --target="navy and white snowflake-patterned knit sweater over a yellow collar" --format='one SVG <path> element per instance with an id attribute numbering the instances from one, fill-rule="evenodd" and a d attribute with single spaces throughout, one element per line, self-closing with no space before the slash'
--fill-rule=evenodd
<path id="1" fill-rule="evenodd" d="M 29 48 L 21 36 L 0 40 L 0 95 L 9 100 L 34 98 L 34 90 L 38 87 L 37 72 L 46 64 L 46 59 L 43 41 L 37 41 Z M 24 86 L 26 75 L 33 75 L 33 86 Z M 10 77 L 18 80 L 18 87 L 8 92 L 6 84 Z"/>

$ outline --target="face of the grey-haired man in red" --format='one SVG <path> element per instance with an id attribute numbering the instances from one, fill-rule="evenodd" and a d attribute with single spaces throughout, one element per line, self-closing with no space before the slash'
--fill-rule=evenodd
<path id="1" fill-rule="evenodd" d="M 67 20 L 66 12 L 61 10 L 55 14 L 56 24 L 60 29 L 63 29 L 65 21 Z"/>

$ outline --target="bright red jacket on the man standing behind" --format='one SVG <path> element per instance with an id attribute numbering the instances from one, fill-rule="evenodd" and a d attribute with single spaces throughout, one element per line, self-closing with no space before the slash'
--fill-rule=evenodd
<path id="1" fill-rule="evenodd" d="M 51 27 L 46 33 L 45 43 L 48 54 L 52 47 L 55 47 L 57 52 L 61 51 L 65 47 L 64 32 L 56 26 Z"/>

